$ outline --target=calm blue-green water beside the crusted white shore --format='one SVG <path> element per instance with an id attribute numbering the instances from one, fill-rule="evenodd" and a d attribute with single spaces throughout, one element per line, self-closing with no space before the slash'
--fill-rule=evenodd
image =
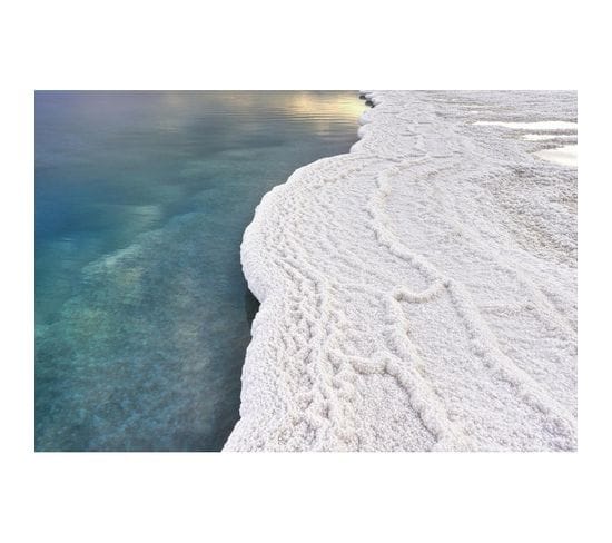
<path id="1" fill-rule="evenodd" d="M 36 93 L 36 450 L 217 451 L 261 196 L 346 152 L 356 92 Z"/>

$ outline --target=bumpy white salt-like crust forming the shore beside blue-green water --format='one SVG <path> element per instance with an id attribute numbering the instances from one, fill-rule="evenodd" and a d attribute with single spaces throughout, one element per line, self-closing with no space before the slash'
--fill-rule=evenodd
<path id="1" fill-rule="evenodd" d="M 366 96 L 351 152 L 245 231 L 261 306 L 225 450 L 575 450 L 576 170 L 473 122 L 575 121 L 576 95 Z"/>

